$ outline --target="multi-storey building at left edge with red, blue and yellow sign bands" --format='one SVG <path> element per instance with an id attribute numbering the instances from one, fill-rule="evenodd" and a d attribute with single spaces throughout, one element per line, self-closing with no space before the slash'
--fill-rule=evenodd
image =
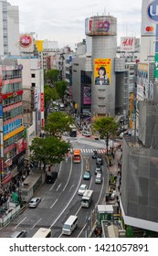
<path id="1" fill-rule="evenodd" d="M 22 171 L 26 154 L 22 117 L 22 65 L 5 59 L 0 65 L 0 180 L 7 183 Z"/>

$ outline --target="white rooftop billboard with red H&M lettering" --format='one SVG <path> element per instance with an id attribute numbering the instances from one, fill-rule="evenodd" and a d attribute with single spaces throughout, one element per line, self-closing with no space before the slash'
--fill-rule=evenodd
<path id="1" fill-rule="evenodd" d="M 121 37 L 121 51 L 135 51 L 135 37 Z"/>

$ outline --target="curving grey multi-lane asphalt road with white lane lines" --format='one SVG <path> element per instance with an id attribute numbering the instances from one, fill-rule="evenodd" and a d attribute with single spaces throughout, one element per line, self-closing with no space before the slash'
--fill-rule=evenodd
<path id="1" fill-rule="evenodd" d="M 81 143 L 79 141 L 81 140 Z M 16 229 L 26 229 L 27 237 L 31 238 L 40 227 L 51 228 L 52 237 L 66 237 L 62 236 L 62 226 L 69 215 L 77 215 L 79 224 L 70 237 L 84 238 L 92 211 L 104 201 L 106 187 L 108 185 L 108 174 L 105 165 L 103 169 L 102 184 L 95 184 L 95 159 L 91 158 L 90 150 L 100 147 L 100 142 L 91 144 L 90 139 L 78 138 L 72 140 L 72 147 L 79 147 L 81 149 L 88 148 L 87 152 L 82 154 L 80 164 L 72 163 L 72 156 L 68 156 L 68 162 L 63 161 L 57 166 L 58 179 L 55 184 L 44 184 L 44 186 L 37 192 L 36 197 L 41 197 L 42 201 L 37 208 L 26 208 L 16 219 L 0 232 L 0 237 L 9 237 L 11 232 Z M 85 144 L 84 144 L 85 143 Z M 97 147 L 98 145 L 98 147 Z M 83 180 L 83 172 L 86 168 L 85 157 L 89 159 L 91 178 L 90 180 Z M 88 187 L 94 190 L 90 208 L 81 208 L 81 196 L 78 195 L 78 189 L 81 184 L 87 184 Z M 89 223 L 90 224 L 90 223 Z"/>

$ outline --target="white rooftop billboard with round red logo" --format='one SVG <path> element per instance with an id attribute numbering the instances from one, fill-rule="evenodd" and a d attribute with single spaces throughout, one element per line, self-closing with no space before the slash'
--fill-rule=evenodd
<path id="1" fill-rule="evenodd" d="M 19 49 L 21 52 L 31 53 L 34 51 L 33 34 L 21 34 L 19 37 Z"/>

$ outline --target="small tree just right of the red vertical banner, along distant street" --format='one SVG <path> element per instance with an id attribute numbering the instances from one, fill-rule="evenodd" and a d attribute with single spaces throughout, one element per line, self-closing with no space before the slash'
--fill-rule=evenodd
<path id="1" fill-rule="evenodd" d="M 47 119 L 47 110 L 50 105 L 50 101 L 56 101 L 58 99 L 58 93 L 56 88 L 51 88 L 48 84 L 44 86 L 44 96 L 45 96 L 45 119 Z"/>

